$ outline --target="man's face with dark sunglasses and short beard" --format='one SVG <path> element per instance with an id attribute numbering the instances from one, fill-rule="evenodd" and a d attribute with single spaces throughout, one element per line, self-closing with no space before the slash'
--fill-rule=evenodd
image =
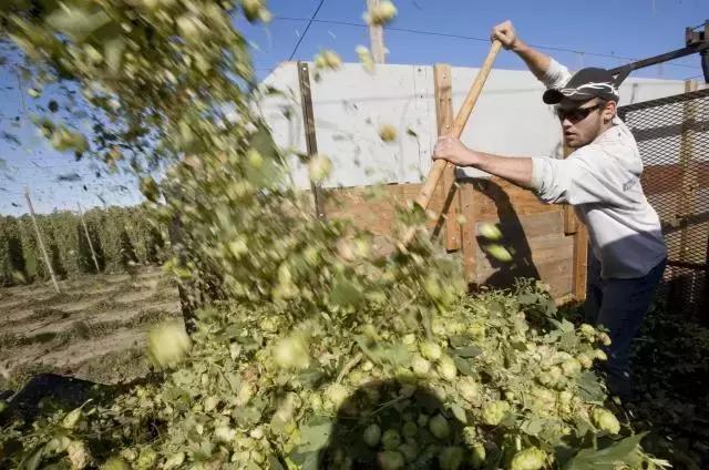
<path id="1" fill-rule="evenodd" d="M 588 145 L 606 129 L 615 112 L 616 103 L 604 103 L 598 98 L 582 103 L 562 100 L 556 113 L 564 131 L 564 143 L 572 149 Z"/>

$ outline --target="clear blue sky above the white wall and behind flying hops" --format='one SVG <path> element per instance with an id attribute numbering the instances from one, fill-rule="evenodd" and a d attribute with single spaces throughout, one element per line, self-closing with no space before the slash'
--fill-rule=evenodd
<path id="1" fill-rule="evenodd" d="M 270 0 L 275 14 L 268 25 L 237 25 L 254 45 L 254 62 L 260 78 L 292 53 L 305 31 L 307 19 L 320 0 Z M 322 48 L 337 50 L 347 61 L 356 61 L 354 48 L 369 43 L 362 23 L 366 0 L 325 0 L 294 60 L 310 60 Z M 572 69 L 617 67 L 628 58 L 641 59 L 684 45 L 687 25 L 709 19 L 709 0 L 398 0 L 399 16 L 384 33 L 390 63 L 431 64 L 448 62 L 477 67 L 489 50 L 491 28 L 512 19 L 522 39 L 554 55 Z M 425 31 L 413 32 L 413 31 Z M 445 34 L 458 35 L 446 37 Z M 460 37 L 471 38 L 464 39 Z M 512 53 L 499 55 L 495 67 L 522 69 Z M 634 76 L 699 78 L 699 59 L 690 57 L 662 67 L 636 72 Z M 25 88 L 25 86 L 24 86 Z M 18 78 L 0 69 L 0 132 L 20 139 L 20 145 L 0 140 L 0 214 L 24 212 L 22 191 L 30 185 L 38 212 L 54 208 L 134 204 L 141 200 L 134 183 L 125 176 L 95 176 L 90 162 L 73 162 L 38 137 L 29 122 L 37 105 L 52 96 L 33 100 L 20 92 Z M 14 117 L 20 116 L 19 121 Z M 2 163 L 0 162 L 0 165 Z M 59 182 L 60 175 L 76 173 L 78 182 Z M 84 188 L 85 186 L 85 188 Z"/>

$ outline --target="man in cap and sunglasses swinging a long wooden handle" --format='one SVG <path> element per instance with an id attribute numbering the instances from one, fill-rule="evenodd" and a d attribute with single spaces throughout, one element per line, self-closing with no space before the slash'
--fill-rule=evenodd
<path id="1" fill-rule="evenodd" d="M 662 277 L 667 248 L 659 218 L 639 183 L 637 144 L 616 115 L 618 91 L 603 69 L 583 69 L 572 76 L 522 42 L 510 21 L 495 27 L 492 39 L 517 53 L 546 85 L 543 100 L 556 106 L 565 144 L 574 152 L 566 160 L 510 159 L 475 152 L 443 136 L 433 159 L 503 177 L 531 188 L 546 203 L 574 206 L 588 228 L 592 251 L 586 320 L 608 328 L 608 388 L 627 401 L 630 341 Z"/>

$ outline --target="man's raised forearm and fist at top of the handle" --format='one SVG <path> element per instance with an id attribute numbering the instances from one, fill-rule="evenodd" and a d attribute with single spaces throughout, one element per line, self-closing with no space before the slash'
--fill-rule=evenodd
<path id="1" fill-rule="evenodd" d="M 534 76 L 548 89 L 564 86 L 572 76 L 568 69 L 523 42 L 510 20 L 493 28 L 492 39 L 499 40 L 505 49 L 520 55 Z"/>

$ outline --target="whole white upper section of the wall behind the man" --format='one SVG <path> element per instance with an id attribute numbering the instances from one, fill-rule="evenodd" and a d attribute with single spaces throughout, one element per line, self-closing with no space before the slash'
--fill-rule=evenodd
<path id="1" fill-rule="evenodd" d="M 311 69 L 311 78 L 312 65 Z M 453 109 L 461 106 L 479 69 L 453 68 Z M 266 83 L 285 96 L 270 96 L 261 111 L 276 141 L 305 152 L 298 73 L 295 63 L 281 64 Z M 410 183 L 425 177 L 435 144 L 433 69 L 423 65 L 379 65 L 368 73 L 360 64 L 325 72 L 312 83 L 318 150 L 333 161 L 326 186 Z M 558 120 L 542 102 L 543 85 L 527 71 L 493 70 L 462 135 L 469 146 L 508 156 L 562 155 Z M 684 92 L 676 80 L 628 79 L 620 104 Z M 286 119 L 284 110 L 290 110 Z M 382 124 L 399 139 L 384 143 Z M 307 172 L 294 162 L 294 178 L 308 187 Z M 469 171 L 471 175 L 481 172 Z"/>

